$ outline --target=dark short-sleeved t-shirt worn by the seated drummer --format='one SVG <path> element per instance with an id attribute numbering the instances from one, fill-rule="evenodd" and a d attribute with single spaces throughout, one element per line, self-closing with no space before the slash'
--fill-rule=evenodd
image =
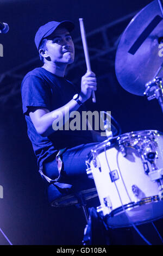
<path id="1" fill-rule="evenodd" d="M 63 129 L 54 131 L 48 137 L 42 137 L 36 132 L 29 117 L 30 107 L 45 107 L 51 112 L 72 100 L 72 97 L 78 91 L 65 77 L 58 77 L 43 68 L 36 68 L 24 77 L 21 84 L 21 93 L 28 137 L 32 142 L 39 165 L 52 154 L 57 155 L 60 149 L 93 142 L 91 132 L 87 130 Z M 85 110 L 83 106 L 78 109 L 80 113 L 82 110 Z"/>

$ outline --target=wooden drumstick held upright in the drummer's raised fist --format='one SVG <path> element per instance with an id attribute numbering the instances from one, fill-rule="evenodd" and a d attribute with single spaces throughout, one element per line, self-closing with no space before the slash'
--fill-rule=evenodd
<path id="1" fill-rule="evenodd" d="M 84 48 L 86 68 L 87 68 L 87 72 L 89 72 L 89 71 L 91 71 L 91 64 L 90 64 L 89 52 L 87 49 L 86 34 L 85 34 L 85 29 L 84 29 L 83 18 L 79 19 L 79 23 L 80 23 L 80 32 L 81 32 L 83 48 Z M 92 101 L 93 101 L 93 103 L 96 102 L 96 97 L 95 97 L 94 91 L 92 91 Z"/>

